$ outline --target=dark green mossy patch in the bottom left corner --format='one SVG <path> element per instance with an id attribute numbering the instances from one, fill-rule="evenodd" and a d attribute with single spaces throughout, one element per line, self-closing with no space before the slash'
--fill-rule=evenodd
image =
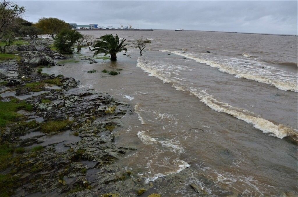
<path id="1" fill-rule="evenodd" d="M 18 186 L 18 179 L 18 176 L 0 174 L 0 196 L 12 196 L 14 194 L 13 188 Z"/>

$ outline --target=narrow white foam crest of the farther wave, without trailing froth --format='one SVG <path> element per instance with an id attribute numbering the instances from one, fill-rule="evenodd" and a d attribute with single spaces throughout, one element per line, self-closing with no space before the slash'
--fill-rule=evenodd
<path id="1" fill-rule="evenodd" d="M 297 83 L 295 83 L 295 82 L 289 82 L 289 81 L 285 82 L 285 81 L 280 81 L 280 80 L 276 80 L 276 79 L 270 79 L 269 77 L 266 77 L 264 75 L 260 76 L 260 75 L 250 74 L 249 72 L 240 72 L 239 70 L 237 70 L 235 68 L 232 68 L 232 67 L 229 67 L 226 65 L 221 65 L 216 62 L 209 61 L 209 60 L 203 60 L 198 57 L 193 57 L 188 54 L 181 53 L 179 51 L 169 51 L 169 50 L 160 50 L 160 51 L 170 52 L 170 53 L 173 53 L 176 55 L 180 55 L 180 56 L 195 60 L 196 62 L 199 62 L 201 64 L 206 64 L 213 68 L 217 68 L 219 71 L 235 75 L 235 77 L 237 77 L 237 78 L 244 78 L 244 79 L 254 80 L 254 81 L 260 82 L 260 83 L 269 84 L 269 85 L 272 85 L 272 86 L 274 86 L 280 90 L 284 90 L 284 91 L 290 90 L 290 91 L 298 92 L 298 86 L 297 86 Z"/>

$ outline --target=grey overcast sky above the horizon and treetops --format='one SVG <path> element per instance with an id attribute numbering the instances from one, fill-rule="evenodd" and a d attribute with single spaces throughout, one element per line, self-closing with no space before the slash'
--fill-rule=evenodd
<path id="1" fill-rule="evenodd" d="M 297 35 L 297 1 L 15 1 L 26 20 Z"/>

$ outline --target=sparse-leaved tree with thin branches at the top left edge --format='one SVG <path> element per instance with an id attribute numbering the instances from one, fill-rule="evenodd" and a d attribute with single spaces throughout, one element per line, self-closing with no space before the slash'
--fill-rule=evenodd
<path id="1" fill-rule="evenodd" d="M 4 49 L 0 46 L 0 52 L 5 52 L 5 47 L 11 44 L 12 29 L 17 26 L 18 19 L 24 15 L 25 8 L 14 4 L 13 1 L 0 0 L 0 40 L 4 39 Z"/>

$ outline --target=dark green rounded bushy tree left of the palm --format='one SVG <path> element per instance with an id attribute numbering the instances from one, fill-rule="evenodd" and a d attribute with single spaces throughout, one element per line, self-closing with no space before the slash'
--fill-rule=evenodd
<path id="1" fill-rule="evenodd" d="M 73 45 L 82 37 L 82 34 L 76 30 L 63 29 L 55 37 L 54 46 L 60 53 L 73 53 Z"/>

